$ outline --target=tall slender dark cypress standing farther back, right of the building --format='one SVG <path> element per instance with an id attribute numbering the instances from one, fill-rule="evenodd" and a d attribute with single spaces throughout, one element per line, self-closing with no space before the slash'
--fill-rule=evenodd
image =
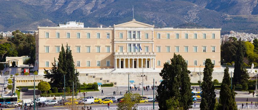
<path id="1" fill-rule="evenodd" d="M 234 76 L 233 76 L 233 82 L 238 84 L 241 82 L 241 73 L 244 69 L 243 66 L 243 60 L 244 60 L 244 54 L 243 54 L 243 48 L 244 44 L 241 41 L 241 38 L 239 39 L 238 42 L 238 47 L 236 51 L 236 59 L 235 59 L 235 68 L 234 68 Z"/>

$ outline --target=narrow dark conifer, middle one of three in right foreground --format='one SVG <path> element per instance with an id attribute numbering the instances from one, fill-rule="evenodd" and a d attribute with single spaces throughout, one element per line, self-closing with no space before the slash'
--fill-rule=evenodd
<path id="1" fill-rule="evenodd" d="M 203 69 L 201 110 L 213 110 L 216 103 L 215 86 L 212 81 L 213 68 L 211 59 L 206 59 Z"/>

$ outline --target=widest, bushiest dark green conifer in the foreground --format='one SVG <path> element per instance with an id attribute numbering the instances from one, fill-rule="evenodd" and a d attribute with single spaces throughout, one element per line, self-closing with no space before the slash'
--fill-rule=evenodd
<path id="1" fill-rule="evenodd" d="M 164 63 L 164 68 L 159 73 L 163 81 L 158 86 L 158 96 L 156 96 L 161 110 L 169 109 L 167 108 L 166 101 L 172 97 L 180 102 L 178 105 L 174 105 L 175 107 L 185 110 L 191 107 L 192 98 L 189 73 L 187 64 L 180 55 L 174 54 L 171 64 Z"/>

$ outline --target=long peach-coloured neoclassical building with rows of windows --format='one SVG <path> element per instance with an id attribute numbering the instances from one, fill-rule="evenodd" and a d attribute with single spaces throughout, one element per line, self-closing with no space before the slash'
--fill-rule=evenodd
<path id="1" fill-rule="evenodd" d="M 206 58 L 214 69 L 221 67 L 221 28 L 155 28 L 135 19 L 105 28 L 74 23 L 38 27 L 35 66 L 39 73 L 51 69 L 54 58 L 58 63 L 62 44 L 72 50 L 77 69 L 163 68 L 174 53 L 183 56 L 191 71 L 204 68 Z"/>

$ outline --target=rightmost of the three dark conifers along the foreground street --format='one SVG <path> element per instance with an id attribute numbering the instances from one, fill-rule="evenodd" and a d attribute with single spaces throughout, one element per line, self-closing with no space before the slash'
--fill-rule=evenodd
<path id="1" fill-rule="evenodd" d="M 219 92 L 219 104 L 221 110 L 237 110 L 235 102 L 234 88 L 231 90 L 230 77 L 228 74 L 228 67 L 224 69 L 224 76 L 221 83 L 221 90 Z"/>

